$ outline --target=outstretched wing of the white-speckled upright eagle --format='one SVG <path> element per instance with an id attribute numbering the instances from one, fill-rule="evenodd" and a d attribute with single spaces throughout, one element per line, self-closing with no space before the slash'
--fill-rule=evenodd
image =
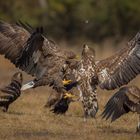
<path id="1" fill-rule="evenodd" d="M 130 82 L 140 73 L 140 33 L 128 46 L 96 64 L 101 88 L 111 90 Z"/>

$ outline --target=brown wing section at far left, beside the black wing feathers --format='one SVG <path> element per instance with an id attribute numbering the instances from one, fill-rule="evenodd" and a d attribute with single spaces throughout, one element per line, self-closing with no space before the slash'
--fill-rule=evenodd
<path id="1" fill-rule="evenodd" d="M 0 54 L 15 63 L 29 37 L 30 33 L 24 28 L 0 21 Z"/>

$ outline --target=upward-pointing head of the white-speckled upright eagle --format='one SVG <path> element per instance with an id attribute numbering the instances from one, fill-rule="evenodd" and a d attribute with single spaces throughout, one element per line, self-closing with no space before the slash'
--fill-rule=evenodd
<path id="1" fill-rule="evenodd" d="M 88 45 L 83 45 L 82 51 L 82 58 L 83 59 L 94 59 L 95 58 L 95 51 L 93 48 L 88 47 Z"/>

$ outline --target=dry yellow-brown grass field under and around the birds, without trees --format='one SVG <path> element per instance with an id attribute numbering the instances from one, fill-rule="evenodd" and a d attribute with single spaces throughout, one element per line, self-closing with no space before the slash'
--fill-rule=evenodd
<path id="1" fill-rule="evenodd" d="M 97 49 L 99 58 L 112 54 L 113 50 Z M 8 83 L 17 69 L 0 56 L 0 86 Z M 24 73 L 24 81 L 31 79 Z M 130 84 L 139 86 L 140 77 Z M 140 87 L 140 86 L 139 86 Z M 98 89 L 99 112 L 97 118 L 83 121 L 81 103 L 70 105 L 66 115 L 54 115 L 44 108 L 48 87 L 23 92 L 8 113 L 0 112 L 0 140 L 140 140 L 136 135 L 137 114 L 129 113 L 114 123 L 105 122 L 100 114 L 103 106 L 115 91 Z"/>

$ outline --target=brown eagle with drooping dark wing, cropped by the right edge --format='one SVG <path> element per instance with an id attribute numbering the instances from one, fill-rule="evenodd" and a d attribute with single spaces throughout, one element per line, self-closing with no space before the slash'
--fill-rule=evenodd
<path id="1" fill-rule="evenodd" d="M 128 112 L 139 114 L 137 132 L 140 133 L 140 89 L 136 86 L 120 88 L 105 105 L 102 117 L 113 122 Z"/>

